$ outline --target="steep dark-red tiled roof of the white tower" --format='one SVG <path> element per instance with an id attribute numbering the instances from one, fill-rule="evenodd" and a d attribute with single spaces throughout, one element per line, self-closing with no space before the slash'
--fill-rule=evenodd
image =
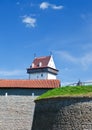
<path id="1" fill-rule="evenodd" d="M 51 56 L 45 56 L 45 57 L 35 58 L 33 60 L 33 64 L 34 64 L 33 68 L 39 68 L 39 63 L 42 64 L 41 67 L 47 67 L 50 58 L 51 58 Z"/>

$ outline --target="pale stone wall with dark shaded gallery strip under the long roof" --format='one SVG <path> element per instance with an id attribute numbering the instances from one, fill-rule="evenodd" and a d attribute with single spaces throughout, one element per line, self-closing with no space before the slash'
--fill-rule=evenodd
<path id="1" fill-rule="evenodd" d="M 0 130 L 31 130 L 35 98 L 46 89 L 0 89 Z"/>

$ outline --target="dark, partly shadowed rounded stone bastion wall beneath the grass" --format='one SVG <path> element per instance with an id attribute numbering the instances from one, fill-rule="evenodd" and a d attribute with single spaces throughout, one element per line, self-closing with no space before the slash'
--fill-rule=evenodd
<path id="1" fill-rule="evenodd" d="M 92 97 L 36 101 L 32 130 L 92 130 Z"/>

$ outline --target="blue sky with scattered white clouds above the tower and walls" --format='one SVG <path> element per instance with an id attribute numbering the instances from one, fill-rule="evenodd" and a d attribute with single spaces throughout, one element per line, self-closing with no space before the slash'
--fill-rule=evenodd
<path id="1" fill-rule="evenodd" d="M 0 78 L 28 79 L 50 52 L 62 83 L 92 81 L 92 0 L 1 0 Z"/>

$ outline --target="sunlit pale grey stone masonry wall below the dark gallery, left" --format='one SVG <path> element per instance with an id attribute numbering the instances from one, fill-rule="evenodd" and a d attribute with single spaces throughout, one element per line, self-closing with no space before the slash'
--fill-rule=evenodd
<path id="1" fill-rule="evenodd" d="M 31 130 L 32 96 L 0 96 L 0 130 Z"/>

